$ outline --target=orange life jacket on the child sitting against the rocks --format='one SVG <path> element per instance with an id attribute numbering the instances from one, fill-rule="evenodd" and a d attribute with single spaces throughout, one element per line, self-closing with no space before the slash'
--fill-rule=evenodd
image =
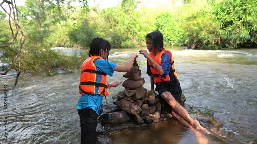
<path id="1" fill-rule="evenodd" d="M 174 78 L 178 78 L 177 73 L 175 72 L 174 69 L 174 61 L 172 58 L 172 54 L 169 50 L 163 49 L 162 51 L 159 51 L 156 56 L 154 56 L 153 52 L 149 53 L 149 56 L 155 61 L 157 62 L 159 65 L 161 65 L 161 56 L 164 52 L 167 52 L 170 55 L 170 62 L 171 62 L 171 68 L 170 68 L 170 72 L 166 77 L 162 77 L 157 70 L 155 70 L 151 64 L 151 62 L 148 60 L 148 63 L 150 65 L 150 70 L 154 76 L 154 82 L 155 83 L 159 83 L 159 82 L 167 82 L 170 81 L 170 73 L 173 75 Z"/>

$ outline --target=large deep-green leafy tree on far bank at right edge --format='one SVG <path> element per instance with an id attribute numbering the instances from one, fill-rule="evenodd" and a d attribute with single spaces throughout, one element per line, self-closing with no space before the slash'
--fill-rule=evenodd
<path id="1" fill-rule="evenodd" d="M 227 0 L 214 7 L 221 23 L 224 45 L 230 48 L 256 46 L 257 0 Z"/>

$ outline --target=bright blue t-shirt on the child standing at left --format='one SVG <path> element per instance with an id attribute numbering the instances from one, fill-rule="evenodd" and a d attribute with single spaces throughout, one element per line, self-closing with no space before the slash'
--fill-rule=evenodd
<path id="1" fill-rule="evenodd" d="M 94 64 L 96 66 L 97 71 L 104 72 L 110 76 L 113 75 L 114 68 L 117 65 L 115 63 L 112 63 L 110 61 L 103 60 L 103 59 L 94 60 Z M 101 77 L 102 77 L 102 75 L 96 74 L 96 82 L 97 83 L 100 83 Z M 95 94 L 98 93 L 98 90 L 99 90 L 99 86 L 96 86 Z M 78 101 L 77 109 L 83 109 L 86 107 L 90 107 L 96 111 L 97 115 L 99 115 L 99 109 L 102 106 L 102 102 L 103 102 L 103 96 L 99 96 L 99 95 L 92 96 L 92 95 L 88 95 L 88 94 L 82 94 L 82 96 L 80 97 L 80 99 Z"/>

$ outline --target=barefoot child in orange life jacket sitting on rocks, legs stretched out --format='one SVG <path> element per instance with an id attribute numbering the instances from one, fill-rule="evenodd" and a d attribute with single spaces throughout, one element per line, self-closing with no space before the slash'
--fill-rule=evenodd
<path id="1" fill-rule="evenodd" d="M 174 61 L 169 50 L 163 47 L 163 36 L 160 31 L 153 31 L 146 35 L 146 50 L 141 49 L 140 54 L 143 54 L 147 59 L 146 73 L 151 76 L 151 90 L 159 92 L 160 99 L 164 100 L 171 108 L 172 115 L 176 117 L 184 126 L 188 128 L 196 128 L 206 131 L 207 129 L 200 126 L 197 120 L 193 120 L 186 110 L 180 105 L 182 90 L 178 81 L 178 75 L 174 69 Z M 154 84 L 152 83 L 152 77 Z"/>

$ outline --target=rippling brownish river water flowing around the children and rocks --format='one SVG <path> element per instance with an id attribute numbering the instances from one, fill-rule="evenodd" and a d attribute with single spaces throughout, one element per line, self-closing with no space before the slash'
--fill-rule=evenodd
<path id="1" fill-rule="evenodd" d="M 257 102 L 257 49 L 237 50 L 186 50 L 167 47 L 172 51 L 175 70 L 182 93 L 187 101 L 185 108 L 193 119 L 205 117 L 219 125 L 215 128 L 205 120 L 201 124 L 211 131 L 203 134 L 183 127 L 176 120 L 138 126 L 135 122 L 115 126 L 97 126 L 104 131 L 97 143 L 256 143 Z M 61 49 L 68 54 L 70 49 Z M 125 64 L 131 53 L 140 49 L 110 51 L 109 61 Z M 85 52 L 86 53 L 86 52 Z M 150 89 L 146 75 L 146 59 L 140 55 L 137 63 Z M 107 77 L 107 82 L 124 81 L 121 72 Z M 1 110 L 0 143 L 79 143 L 80 121 L 77 102 L 80 73 L 61 72 L 56 76 L 28 75 L 19 79 L 15 88 L 16 72 L 0 75 L 3 86 L 8 84 L 8 141 L 4 138 L 4 116 Z M 123 91 L 122 85 L 111 88 L 112 96 Z M 105 104 L 105 100 L 103 101 Z M 108 131 L 106 131 L 108 130 Z"/>

